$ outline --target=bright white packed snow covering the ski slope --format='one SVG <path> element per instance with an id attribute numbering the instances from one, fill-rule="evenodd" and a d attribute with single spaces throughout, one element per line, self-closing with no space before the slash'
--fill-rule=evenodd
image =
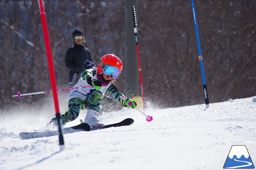
<path id="1" fill-rule="evenodd" d="M 99 117 L 102 123 L 128 117 L 134 123 L 65 133 L 62 151 L 58 135 L 45 137 L 43 127 L 54 117 L 53 106 L 46 103 L 16 106 L 1 116 L 0 170 L 221 170 L 232 145 L 245 145 L 256 163 L 256 96 L 210 103 L 210 108 L 205 104 L 168 109 L 151 106 L 146 109 L 153 116 L 151 122 L 136 109 L 105 113 Z M 67 103 L 60 106 L 64 113 Z M 78 124 L 85 114 L 81 111 L 65 127 Z M 20 139 L 19 132 L 34 129 L 45 136 Z"/>

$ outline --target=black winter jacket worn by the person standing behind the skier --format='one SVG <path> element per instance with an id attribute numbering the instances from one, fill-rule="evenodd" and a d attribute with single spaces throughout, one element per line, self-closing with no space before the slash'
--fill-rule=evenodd
<path id="1" fill-rule="evenodd" d="M 73 47 L 68 48 L 65 63 L 70 70 L 81 73 L 86 60 L 92 61 L 92 56 L 86 47 L 74 44 Z"/>

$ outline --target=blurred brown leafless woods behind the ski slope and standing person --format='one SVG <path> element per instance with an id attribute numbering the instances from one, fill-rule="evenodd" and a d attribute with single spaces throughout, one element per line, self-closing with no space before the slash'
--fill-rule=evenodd
<path id="1" fill-rule="evenodd" d="M 112 53 L 125 64 L 125 5 L 125 0 L 45 0 L 58 89 L 68 87 L 65 53 L 75 28 L 85 34 L 95 63 Z M 195 0 L 210 103 L 256 95 L 255 7 L 255 0 Z M 204 103 L 190 0 L 138 0 L 136 10 L 147 104 Z M 38 1 L 1 0 L 0 61 L 0 109 L 40 104 L 46 95 L 12 97 L 51 89 Z M 124 94 L 129 69 L 115 82 Z"/>

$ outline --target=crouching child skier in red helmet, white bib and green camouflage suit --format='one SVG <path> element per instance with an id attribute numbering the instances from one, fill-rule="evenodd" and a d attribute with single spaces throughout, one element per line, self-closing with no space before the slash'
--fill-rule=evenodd
<path id="1" fill-rule="evenodd" d="M 112 94 L 124 107 L 136 108 L 137 103 L 120 93 L 114 84 L 114 81 L 121 74 L 122 67 L 122 61 L 117 56 L 106 54 L 101 57 L 97 68 L 84 70 L 74 87 L 90 87 L 70 91 L 68 111 L 61 115 L 60 121 L 62 124 L 65 125 L 67 122 L 75 120 L 79 115 L 80 109 L 87 109 L 84 123 L 88 123 L 90 127 L 104 125 L 100 123 L 97 117 L 99 116 L 102 97 L 106 91 Z M 52 124 L 56 124 L 55 117 L 47 126 Z"/>

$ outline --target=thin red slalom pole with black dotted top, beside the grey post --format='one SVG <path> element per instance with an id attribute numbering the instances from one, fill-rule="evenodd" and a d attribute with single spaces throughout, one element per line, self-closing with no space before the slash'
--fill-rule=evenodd
<path id="1" fill-rule="evenodd" d="M 139 42 L 138 42 L 138 36 L 137 36 L 137 17 L 136 17 L 135 6 L 133 6 L 133 25 L 134 25 L 133 26 L 133 30 L 134 30 L 134 34 L 135 34 L 135 42 L 136 42 L 136 49 L 137 49 L 138 64 L 139 64 L 141 97 L 142 97 L 143 111 L 145 112 L 144 89 L 143 89 L 141 64 L 140 64 Z"/>

